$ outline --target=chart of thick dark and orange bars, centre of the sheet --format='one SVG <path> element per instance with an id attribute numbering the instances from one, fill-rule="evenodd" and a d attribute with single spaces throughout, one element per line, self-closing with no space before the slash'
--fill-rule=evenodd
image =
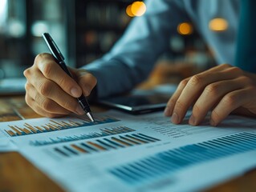
<path id="1" fill-rule="evenodd" d="M 108 150 L 118 150 L 131 146 L 161 141 L 146 134 L 124 134 L 110 138 L 100 138 L 93 141 L 77 142 L 54 147 L 51 152 L 62 158 L 70 158 L 81 154 L 100 153 Z"/>

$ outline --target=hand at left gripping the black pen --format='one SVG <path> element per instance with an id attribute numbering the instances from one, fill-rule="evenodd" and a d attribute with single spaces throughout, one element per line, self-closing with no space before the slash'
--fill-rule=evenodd
<path id="1" fill-rule="evenodd" d="M 39 54 L 34 65 L 24 71 L 26 104 L 37 114 L 48 118 L 84 114 L 76 98 L 81 94 L 88 96 L 97 80 L 86 70 L 68 68 L 75 80 L 61 69 L 51 54 Z"/>

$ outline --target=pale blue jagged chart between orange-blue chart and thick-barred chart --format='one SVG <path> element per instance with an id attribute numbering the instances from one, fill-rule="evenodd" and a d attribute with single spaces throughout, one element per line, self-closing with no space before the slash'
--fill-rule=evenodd
<path id="1" fill-rule="evenodd" d="M 102 128 L 99 132 L 92 132 L 87 134 L 72 135 L 66 137 L 48 138 L 47 140 L 30 141 L 30 146 L 47 146 L 61 142 L 75 142 L 83 139 L 102 138 L 114 134 L 124 134 L 135 131 L 127 126 L 118 126 L 112 128 Z"/>

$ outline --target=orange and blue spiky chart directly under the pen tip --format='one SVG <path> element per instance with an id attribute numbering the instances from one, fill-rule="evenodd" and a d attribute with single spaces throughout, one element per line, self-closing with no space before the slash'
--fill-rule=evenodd
<path id="1" fill-rule="evenodd" d="M 28 134 L 41 134 L 56 130 L 67 130 L 82 126 L 94 126 L 118 121 L 120 120 L 112 117 L 95 118 L 95 122 L 89 122 L 85 118 L 73 118 L 72 120 L 50 119 L 48 123 L 41 126 L 32 126 L 29 123 L 24 123 L 23 126 L 8 125 L 10 130 L 5 130 L 5 132 L 10 135 L 10 137 L 17 137 Z"/>

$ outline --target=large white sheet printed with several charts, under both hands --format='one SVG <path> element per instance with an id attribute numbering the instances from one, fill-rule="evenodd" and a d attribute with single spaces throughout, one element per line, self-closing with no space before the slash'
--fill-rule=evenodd
<path id="1" fill-rule="evenodd" d="M 188 114 L 189 116 L 189 114 Z M 256 166 L 256 120 L 173 125 L 160 113 L 3 122 L 0 132 L 67 191 L 202 190 Z"/>

